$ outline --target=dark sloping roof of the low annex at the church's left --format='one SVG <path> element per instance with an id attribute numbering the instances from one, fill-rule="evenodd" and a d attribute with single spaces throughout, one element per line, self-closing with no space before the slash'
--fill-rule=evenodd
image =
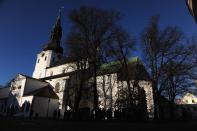
<path id="1" fill-rule="evenodd" d="M 59 99 L 50 85 L 25 93 L 23 96 L 29 95 Z"/>

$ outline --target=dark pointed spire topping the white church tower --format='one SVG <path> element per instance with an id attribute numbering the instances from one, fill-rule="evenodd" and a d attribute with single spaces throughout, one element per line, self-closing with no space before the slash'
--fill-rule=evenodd
<path id="1" fill-rule="evenodd" d="M 56 23 L 53 26 L 50 35 L 50 41 L 44 45 L 43 50 L 53 50 L 57 53 L 63 54 L 63 48 L 61 47 L 61 38 L 62 38 L 62 27 L 61 27 L 61 9 L 59 10 L 59 15 L 57 17 Z"/>

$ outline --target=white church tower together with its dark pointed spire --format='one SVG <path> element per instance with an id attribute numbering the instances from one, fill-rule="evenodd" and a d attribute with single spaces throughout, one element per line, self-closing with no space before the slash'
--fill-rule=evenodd
<path id="1" fill-rule="evenodd" d="M 53 26 L 50 35 L 50 41 L 43 46 L 43 50 L 37 54 L 37 61 L 33 72 L 33 78 L 46 77 L 46 68 L 53 65 L 63 56 L 61 47 L 62 27 L 61 27 L 61 10 Z"/>

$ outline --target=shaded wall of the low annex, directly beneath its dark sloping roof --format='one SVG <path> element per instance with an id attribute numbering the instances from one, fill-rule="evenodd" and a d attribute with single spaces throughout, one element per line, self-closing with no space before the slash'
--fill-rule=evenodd
<path id="1" fill-rule="evenodd" d="M 58 99 L 35 96 L 33 101 L 33 116 L 38 113 L 38 117 L 53 117 L 54 111 L 59 109 Z"/>

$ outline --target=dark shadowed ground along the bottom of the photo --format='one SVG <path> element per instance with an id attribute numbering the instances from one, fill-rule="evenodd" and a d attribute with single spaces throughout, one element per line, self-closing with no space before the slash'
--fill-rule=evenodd
<path id="1" fill-rule="evenodd" d="M 141 131 L 141 130 L 185 130 L 196 128 L 197 122 L 88 122 L 47 119 L 0 118 L 1 131 Z"/>

